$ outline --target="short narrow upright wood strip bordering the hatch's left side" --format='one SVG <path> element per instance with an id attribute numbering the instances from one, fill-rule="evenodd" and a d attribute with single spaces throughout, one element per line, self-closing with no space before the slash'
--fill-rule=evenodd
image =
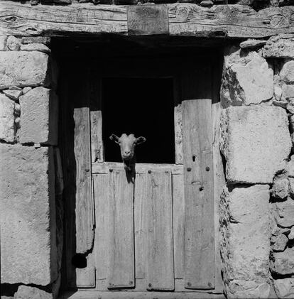
<path id="1" fill-rule="evenodd" d="M 92 163 L 104 162 L 102 141 L 102 111 L 91 111 L 91 158 Z"/>

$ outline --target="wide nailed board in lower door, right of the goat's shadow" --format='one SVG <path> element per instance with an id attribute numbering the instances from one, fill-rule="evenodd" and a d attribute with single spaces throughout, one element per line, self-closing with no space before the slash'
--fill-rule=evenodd
<path id="1" fill-rule="evenodd" d="M 147 289 L 173 290 L 173 205 L 171 173 L 148 173 Z"/>

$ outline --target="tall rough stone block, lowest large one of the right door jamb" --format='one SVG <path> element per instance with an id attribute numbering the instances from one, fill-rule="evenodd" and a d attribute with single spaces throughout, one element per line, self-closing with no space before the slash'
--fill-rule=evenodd
<path id="1" fill-rule="evenodd" d="M 269 292 L 269 198 L 268 185 L 225 187 L 222 193 L 222 271 L 229 298 L 258 298 L 256 294 Z"/>

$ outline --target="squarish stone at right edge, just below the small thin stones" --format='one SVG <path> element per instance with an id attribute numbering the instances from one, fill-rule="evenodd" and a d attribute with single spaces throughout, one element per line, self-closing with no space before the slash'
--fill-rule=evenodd
<path id="1" fill-rule="evenodd" d="M 294 247 L 273 253 L 271 271 L 281 275 L 294 274 Z"/>

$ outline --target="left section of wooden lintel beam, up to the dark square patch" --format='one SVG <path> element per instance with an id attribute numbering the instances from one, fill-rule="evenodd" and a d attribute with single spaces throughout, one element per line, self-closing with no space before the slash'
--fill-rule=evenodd
<path id="1" fill-rule="evenodd" d="M 0 2 L 0 31 L 16 36 L 126 33 L 126 6 L 50 6 Z"/>

